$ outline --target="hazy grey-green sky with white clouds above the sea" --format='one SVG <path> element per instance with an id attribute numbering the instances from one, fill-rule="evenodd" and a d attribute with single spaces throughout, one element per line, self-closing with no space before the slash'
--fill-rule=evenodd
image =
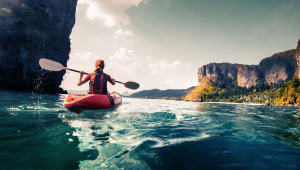
<path id="1" fill-rule="evenodd" d="M 293 49 L 300 38 L 300 0 L 78 0 L 67 66 L 92 72 L 96 59 L 115 80 L 109 91 L 183 89 L 197 85 L 210 62 L 258 64 Z M 67 72 L 63 89 L 77 86 Z"/>

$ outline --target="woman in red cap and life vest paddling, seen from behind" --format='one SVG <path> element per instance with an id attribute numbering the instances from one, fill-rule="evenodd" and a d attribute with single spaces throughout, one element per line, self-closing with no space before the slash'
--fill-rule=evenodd
<path id="1" fill-rule="evenodd" d="M 112 85 L 114 85 L 115 82 L 113 78 L 103 72 L 103 68 L 104 61 L 102 59 L 96 60 L 94 72 L 86 75 L 83 80 L 81 79 L 84 71 L 80 71 L 77 85 L 82 85 L 89 80 L 89 89 L 87 92 L 88 94 L 109 94 L 107 92 L 107 81 L 109 81 Z"/>

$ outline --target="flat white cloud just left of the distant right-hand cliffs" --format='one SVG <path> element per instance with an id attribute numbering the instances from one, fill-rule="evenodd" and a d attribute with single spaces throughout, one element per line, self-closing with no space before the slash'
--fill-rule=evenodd
<path id="1" fill-rule="evenodd" d="M 188 62 L 181 62 L 178 60 L 175 60 L 173 62 L 168 62 L 166 59 L 159 59 L 156 63 L 149 63 L 148 64 L 149 72 L 151 74 L 158 74 L 162 73 L 164 74 L 166 70 L 182 70 L 182 69 L 191 69 L 191 64 Z"/>

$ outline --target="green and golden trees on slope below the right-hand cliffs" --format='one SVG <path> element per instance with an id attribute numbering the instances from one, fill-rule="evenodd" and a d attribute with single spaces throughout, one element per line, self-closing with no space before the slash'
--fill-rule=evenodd
<path id="1" fill-rule="evenodd" d="M 260 81 L 250 88 L 238 86 L 228 78 L 210 80 L 186 93 L 182 100 L 300 106 L 300 80 L 293 77 L 270 85 Z"/>

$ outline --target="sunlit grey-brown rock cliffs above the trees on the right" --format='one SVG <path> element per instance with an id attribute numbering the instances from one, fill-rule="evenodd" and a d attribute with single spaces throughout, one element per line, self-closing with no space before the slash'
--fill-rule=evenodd
<path id="1" fill-rule="evenodd" d="M 267 84 L 278 83 L 300 77 L 300 39 L 296 49 L 278 52 L 266 57 L 259 65 L 244 65 L 232 63 L 209 63 L 198 69 L 198 85 L 217 79 L 230 78 L 237 81 L 238 86 L 255 86 L 258 81 Z"/>

